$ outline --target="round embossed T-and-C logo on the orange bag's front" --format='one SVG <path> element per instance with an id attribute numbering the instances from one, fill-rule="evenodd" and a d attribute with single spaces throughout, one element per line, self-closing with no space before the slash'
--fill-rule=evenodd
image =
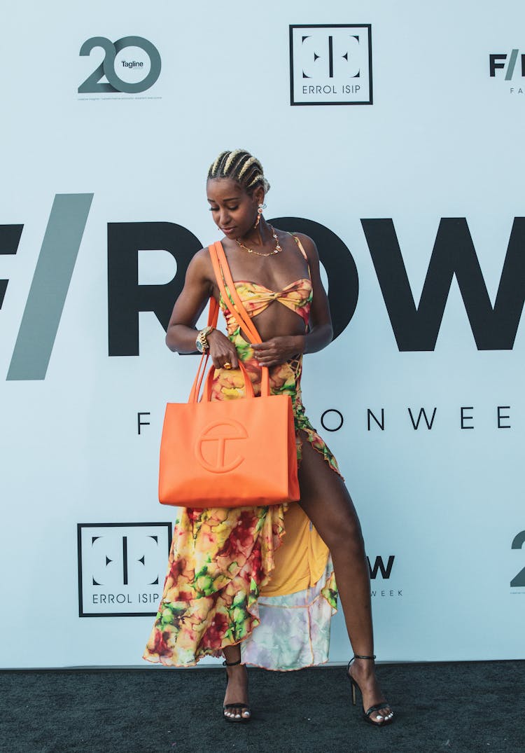
<path id="1" fill-rule="evenodd" d="M 234 471 L 244 461 L 244 457 L 241 455 L 232 457 L 237 448 L 233 449 L 229 443 L 233 440 L 247 439 L 247 437 L 246 428 L 238 421 L 215 421 L 208 424 L 197 440 L 197 460 L 211 473 Z"/>

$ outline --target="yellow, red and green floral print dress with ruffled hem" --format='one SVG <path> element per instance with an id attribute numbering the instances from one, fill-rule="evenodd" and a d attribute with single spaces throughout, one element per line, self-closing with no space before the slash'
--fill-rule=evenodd
<path id="1" fill-rule="evenodd" d="M 235 288 L 250 316 L 279 300 L 308 323 L 310 279 L 297 280 L 278 293 L 247 281 L 235 282 Z M 229 339 L 250 375 L 253 392 L 259 395 L 260 368 L 253 349 L 222 298 L 220 307 Z M 298 461 L 306 437 L 338 473 L 334 456 L 305 416 L 301 370 L 300 356 L 271 367 L 272 394 L 292 399 Z M 241 372 L 217 369 L 211 399 L 242 397 Z M 266 669 L 300 669 L 325 662 L 337 591 L 329 552 L 300 506 L 179 508 L 178 512 L 162 599 L 144 659 L 190 666 L 204 656 L 220 657 L 223 648 L 241 643 L 243 662 Z"/>

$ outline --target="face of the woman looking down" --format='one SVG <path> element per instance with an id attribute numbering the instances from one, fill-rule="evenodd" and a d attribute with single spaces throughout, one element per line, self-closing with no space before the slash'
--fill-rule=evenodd
<path id="1" fill-rule="evenodd" d="M 241 238 L 251 230 L 257 217 L 259 189 L 250 196 L 231 178 L 211 178 L 206 193 L 214 223 L 226 238 Z"/>

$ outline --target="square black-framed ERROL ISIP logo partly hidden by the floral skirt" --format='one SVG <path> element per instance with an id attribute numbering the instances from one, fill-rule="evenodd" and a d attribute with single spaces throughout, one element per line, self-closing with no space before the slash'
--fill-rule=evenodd
<path id="1" fill-rule="evenodd" d="M 78 523 L 78 616 L 154 617 L 171 523 Z"/>

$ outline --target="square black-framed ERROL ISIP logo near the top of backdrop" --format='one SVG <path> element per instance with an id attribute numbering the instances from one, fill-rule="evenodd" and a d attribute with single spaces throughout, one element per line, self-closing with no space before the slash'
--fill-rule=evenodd
<path id="1" fill-rule="evenodd" d="M 290 26 L 291 105 L 372 105 L 372 27 Z"/>

